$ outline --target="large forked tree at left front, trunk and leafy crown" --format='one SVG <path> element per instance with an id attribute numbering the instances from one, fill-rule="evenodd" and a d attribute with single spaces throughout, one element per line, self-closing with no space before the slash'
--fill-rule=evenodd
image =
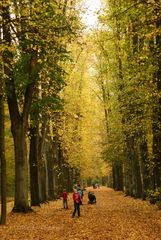
<path id="1" fill-rule="evenodd" d="M 7 3 L 3 15 L 3 40 L 8 47 L 3 61 L 15 151 L 16 182 L 13 210 L 21 212 L 30 210 L 26 138 L 33 92 L 42 63 L 48 62 L 49 65 L 51 63 L 50 54 L 47 53 L 55 52 L 55 58 L 59 52 L 65 54 L 63 37 L 70 29 L 70 25 L 66 17 L 59 12 L 57 2 L 24 0 L 14 1 L 13 4 L 10 1 Z M 40 7 L 41 4 L 43 8 Z M 71 29 L 70 31 L 72 32 Z"/>

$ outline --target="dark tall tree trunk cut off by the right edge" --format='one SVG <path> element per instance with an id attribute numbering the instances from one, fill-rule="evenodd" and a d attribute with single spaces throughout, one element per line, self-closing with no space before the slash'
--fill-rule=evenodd
<path id="1" fill-rule="evenodd" d="M 159 1 L 160 2 L 160 1 Z M 153 109 L 153 158 L 154 158 L 154 189 L 161 188 L 161 7 L 158 1 L 153 3 L 154 27 L 156 35 L 153 40 L 156 72 L 154 74 L 154 84 L 157 91 L 157 99 Z"/>

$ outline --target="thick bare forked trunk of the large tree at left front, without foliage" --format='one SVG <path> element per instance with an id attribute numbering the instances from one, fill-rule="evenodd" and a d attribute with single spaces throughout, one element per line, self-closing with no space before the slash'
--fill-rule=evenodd
<path id="1" fill-rule="evenodd" d="M 8 22 L 8 24 L 6 24 Z M 9 6 L 3 8 L 3 39 L 12 45 L 10 32 Z M 26 131 L 27 117 L 31 103 L 31 84 L 27 87 L 25 95 L 24 110 L 20 116 L 17 96 L 14 86 L 12 72 L 13 54 L 6 49 L 3 53 L 4 73 L 6 74 L 6 89 L 9 113 L 11 119 L 11 131 L 14 139 L 15 150 L 15 205 L 14 211 L 27 211 L 29 209 L 27 198 L 27 152 L 26 152 Z"/>

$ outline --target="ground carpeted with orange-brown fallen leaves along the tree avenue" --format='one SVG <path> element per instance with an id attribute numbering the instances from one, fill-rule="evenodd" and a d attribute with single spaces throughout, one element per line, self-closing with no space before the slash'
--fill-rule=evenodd
<path id="1" fill-rule="evenodd" d="M 96 205 L 87 204 L 90 190 L 96 194 Z M 161 240 L 157 206 L 106 187 L 85 191 L 80 218 L 71 217 L 71 194 L 68 210 L 60 199 L 33 209 L 29 214 L 8 213 L 6 226 L 0 226 L 0 240 Z"/>

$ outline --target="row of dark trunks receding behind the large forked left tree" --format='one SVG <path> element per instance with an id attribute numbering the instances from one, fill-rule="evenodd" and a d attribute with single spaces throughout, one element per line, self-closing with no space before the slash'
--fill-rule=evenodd
<path id="1" fill-rule="evenodd" d="M 41 137 L 38 126 L 30 127 L 31 206 L 60 197 L 63 188 L 72 190 L 71 168 L 64 162 L 58 136 L 47 136 L 47 125 L 42 126 Z"/>

